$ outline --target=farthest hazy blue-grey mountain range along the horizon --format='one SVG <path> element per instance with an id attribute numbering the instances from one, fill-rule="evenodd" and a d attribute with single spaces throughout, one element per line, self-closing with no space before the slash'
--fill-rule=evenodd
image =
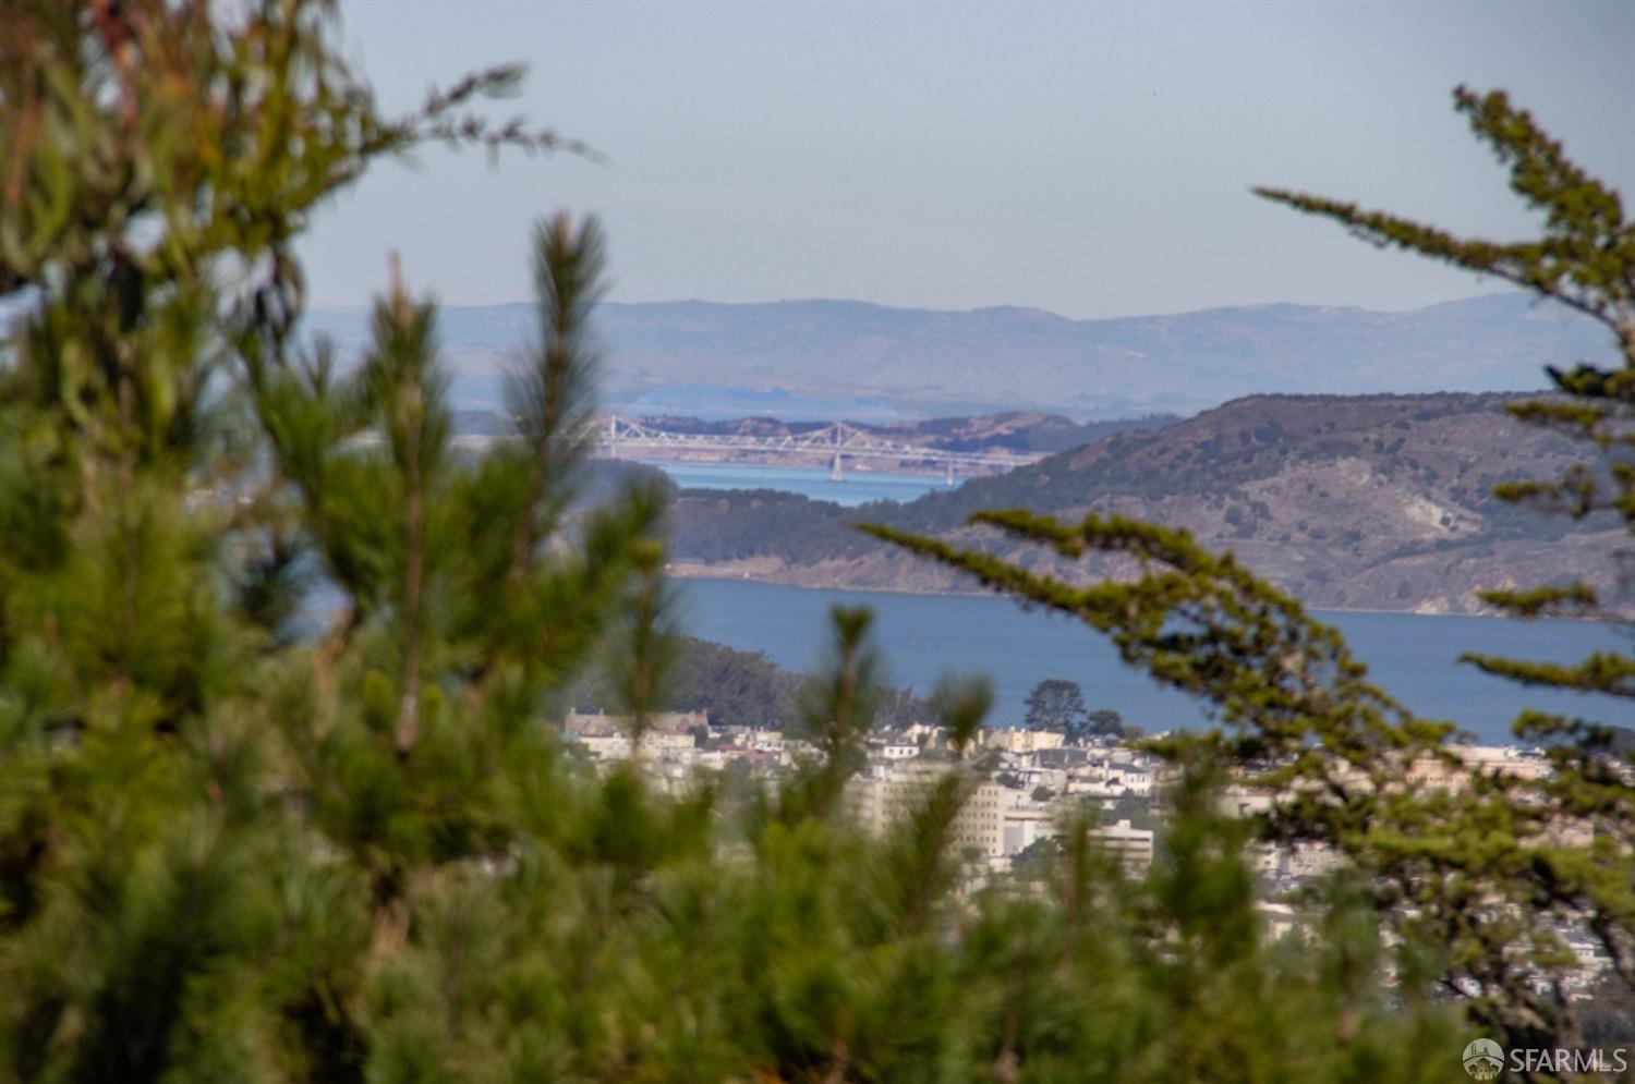
<path id="1" fill-rule="evenodd" d="M 463 405 L 494 404 L 528 304 L 450 306 Z M 363 312 L 309 329 L 361 347 Z M 1295 304 L 1069 320 L 1038 309 L 938 312 L 858 301 L 603 304 L 605 399 L 643 414 L 786 420 L 1045 409 L 1190 414 L 1256 392 L 1527 391 L 1545 365 L 1607 358 L 1604 330 L 1524 294 L 1375 312 Z"/>

